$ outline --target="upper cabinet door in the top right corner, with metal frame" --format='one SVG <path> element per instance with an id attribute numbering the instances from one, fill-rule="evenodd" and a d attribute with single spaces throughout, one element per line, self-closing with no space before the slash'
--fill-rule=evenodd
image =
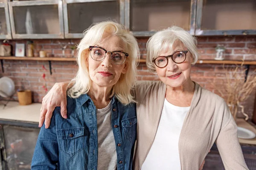
<path id="1" fill-rule="evenodd" d="M 196 35 L 256 34 L 256 0 L 198 0 Z"/>

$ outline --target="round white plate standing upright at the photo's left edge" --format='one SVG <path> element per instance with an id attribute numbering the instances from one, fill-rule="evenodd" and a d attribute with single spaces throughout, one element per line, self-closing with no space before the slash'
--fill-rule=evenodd
<path id="1" fill-rule="evenodd" d="M 1 77 L 0 78 L 0 96 L 2 97 L 10 97 L 15 93 L 15 85 L 12 79 L 9 77 Z M 3 95 L 4 94 L 4 95 Z"/>

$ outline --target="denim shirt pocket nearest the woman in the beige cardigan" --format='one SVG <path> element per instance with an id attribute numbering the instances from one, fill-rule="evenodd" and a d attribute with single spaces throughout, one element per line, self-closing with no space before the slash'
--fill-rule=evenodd
<path id="1" fill-rule="evenodd" d="M 125 139 L 131 140 L 136 135 L 136 125 L 137 118 L 136 116 L 122 120 L 122 128 L 125 133 Z"/>

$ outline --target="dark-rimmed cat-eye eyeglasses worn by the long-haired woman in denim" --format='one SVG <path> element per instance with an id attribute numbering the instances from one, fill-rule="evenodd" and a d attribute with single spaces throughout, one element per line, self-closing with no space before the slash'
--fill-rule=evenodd
<path id="1" fill-rule="evenodd" d="M 111 54 L 111 61 L 116 64 L 120 65 L 125 62 L 126 57 L 128 57 L 128 53 L 122 51 L 107 51 L 104 48 L 97 47 L 97 46 L 89 46 L 90 56 L 92 59 L 96 61 L 102 61 L 107 56 L 109 52 Z"/>

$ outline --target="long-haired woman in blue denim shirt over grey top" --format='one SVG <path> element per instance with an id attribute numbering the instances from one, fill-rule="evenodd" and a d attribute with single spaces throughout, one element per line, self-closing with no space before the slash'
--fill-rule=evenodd
<path id="1" fill-rule="evenodd" d="M 87 29 L 78 45 L 79 70 L 65 96 L 66 119 L 56 107 L 49 128 L 41 128 L 32 170 L 131 170 L 138 54 L 136 39 L 118 23 Z"/>

